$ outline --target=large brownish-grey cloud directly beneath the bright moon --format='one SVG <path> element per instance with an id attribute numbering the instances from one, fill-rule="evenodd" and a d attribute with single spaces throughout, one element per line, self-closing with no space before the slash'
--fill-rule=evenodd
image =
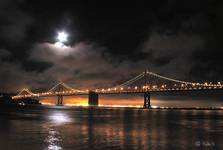
<path id="1" fill-rule="evenodd" d="M 106 49 L 95 43 L 78 43 L 61 49 L 54 44 L 43 43 L 33 47 L 30 59 L 53 64 L 39 76 L 55 81 L 68 81 L 76 87 L 109 86 L 140 69 L 133 62 L 110 63 L 103 55 Z M 50 56 L 50 57 L 49 57 Z"/>

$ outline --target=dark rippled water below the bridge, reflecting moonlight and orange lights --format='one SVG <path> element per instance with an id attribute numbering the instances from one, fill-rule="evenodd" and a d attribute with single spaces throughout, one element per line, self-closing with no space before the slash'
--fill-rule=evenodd
<path id="1" fill-rule="evenodd" d="M 223 149 L 222 110 L 0 110 L 1 150 Z"/>

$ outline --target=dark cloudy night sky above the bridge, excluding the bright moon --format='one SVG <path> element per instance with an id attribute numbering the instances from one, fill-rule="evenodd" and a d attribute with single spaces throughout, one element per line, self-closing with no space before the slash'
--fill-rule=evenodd
<path id="1" fill-rule="evenodd" d="M 188 81 L 222 80 L 223 3 L 0 1 L 0 90 L 57 81 L 114 85 L 149 68 Z M 58 31 L 69 48 L 55 47 Z"/>

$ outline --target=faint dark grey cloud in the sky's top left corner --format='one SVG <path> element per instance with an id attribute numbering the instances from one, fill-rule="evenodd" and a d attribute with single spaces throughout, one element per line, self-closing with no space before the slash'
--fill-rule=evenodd
<path id="1" fill-rule="evenodd" d="M 22 1 L 3 0 L 0 3 L 0 33 L 4 42 L 15 44 L 26 38 L 28 26 L 33 19 L 19 6 Z"/>

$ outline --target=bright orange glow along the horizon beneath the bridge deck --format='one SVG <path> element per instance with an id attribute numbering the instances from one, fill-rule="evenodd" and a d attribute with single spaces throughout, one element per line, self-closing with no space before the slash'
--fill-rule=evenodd
<path id="1" fill-rule="evenodd" d="M 57 104 L 57 97 L 48 97 L 48 98 L 41 98 L 40 103 L 43 105 L 56 105 Z M 100 107 L 135 107 L 141 108 L 143 107 L 143 96 L 131 96 L 131 97 L 118 97 L 112 95 L 109 96 L 100 96 L 99 97 L 99 106 Z M 70 96 L 64 97 L 63 104 L 65 106 L 88 106 L 88 97 L 82 96 Z M 206 101 L 194 101 L 193 99 L 188 100 L 170 100 L 170 99 L 157 99 L 153 97 L 151 99 L 151 105 L 153 108 L 157 107 L 209 107 L 210 104 Z M 218 103 L 221 105 L 221 103 Z M 214 107 L 214 106 L 212 106 Z M 223 108 L 223 107 L 222 107 Z"/>

